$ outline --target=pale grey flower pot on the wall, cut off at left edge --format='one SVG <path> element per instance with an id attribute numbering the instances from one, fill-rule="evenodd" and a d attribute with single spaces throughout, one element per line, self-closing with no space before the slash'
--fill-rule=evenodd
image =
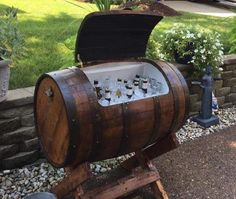
<path id="1" fill-rule="evenodd" d="M 10 79 L 10 60 L 0 60 L 0 102 L 6 100 Z"/>

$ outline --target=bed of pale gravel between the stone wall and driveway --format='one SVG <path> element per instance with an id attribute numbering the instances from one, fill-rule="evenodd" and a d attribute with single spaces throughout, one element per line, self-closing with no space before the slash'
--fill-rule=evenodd
<path id="1" fill-rule="evenodd" d="M 176 133 L 179 142 L 194 140 L 236 124 L 236 107 L 220 109 L 217 115 L 220 118 L 220 124 L 207 129 L 189 119 L 183 128 Z M 97 175 L 109 171 L 132 155 L 95 162 L 91 164 L 93 174 Z M 24 198 L 30 193 L 49 191 L 64 176 L 64 169 L 53 168 L 45 160 L 39 160 L 32 165 L 26 165 L 19 169 L 0 171 L 0 198 L 18 199 Z"/>

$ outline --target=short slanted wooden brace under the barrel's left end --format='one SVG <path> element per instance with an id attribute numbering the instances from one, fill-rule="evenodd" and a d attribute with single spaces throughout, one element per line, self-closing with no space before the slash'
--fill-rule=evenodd
<path id="1" fill-rule="evenodd" d="M 58 199 L 75 190 L 91 176 L 88 163 L 81 164 L 77 168 L 70 170 L 68 173 L 69 174 L 51 190 Z"/>

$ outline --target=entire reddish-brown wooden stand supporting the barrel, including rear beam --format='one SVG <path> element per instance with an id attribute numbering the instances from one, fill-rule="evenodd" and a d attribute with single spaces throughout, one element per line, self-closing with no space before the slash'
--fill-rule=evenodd
<path id="1" fill-rule="evenodd" d="M 176 143 L 173 137 L 169 136 L 158 142 L 158 144 L 152 145 L 143 151 L 135 152 L 133 157 L 122 163 L 122 167 L 131 171 L 130 175 L 119 179 L 117 182 L 92 190 L 82 188 L 82 183 L 92 176 L 89 163 L 81 164 L 73 169 L 67 168 L 67 177 L 56 185 L 52 192 L 59 199 L 71 192 L 74 192 L 76 199 L 115 199 L 149 184 L 155 198 L 168 199 L 168 195 L 160 181 L 160 175 L 150 159 L 173 148 L 176 148 Z M 140 170 L 139 172 L 135 171 L 137 166 L 141 166 L 141 172 Z"/>

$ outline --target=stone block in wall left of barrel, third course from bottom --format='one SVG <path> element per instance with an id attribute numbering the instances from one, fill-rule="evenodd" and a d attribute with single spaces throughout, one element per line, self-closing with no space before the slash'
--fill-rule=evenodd
<path id="1" fill-rule="evenodd" d="M 0 144 L 16 144 L 36 137 L 34 127 L 22 127 L 0 136 Z"/>

